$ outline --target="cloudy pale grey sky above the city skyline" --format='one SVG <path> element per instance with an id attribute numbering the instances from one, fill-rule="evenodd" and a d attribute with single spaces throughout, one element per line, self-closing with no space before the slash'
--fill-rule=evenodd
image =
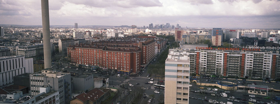
<path id="1" fill-rule="evenodd" d="M 280 0 L 49 0 L 50 25 L 280 28 Z M 40 0 L 0 0 L 0 24 L 42 25 Z"/>

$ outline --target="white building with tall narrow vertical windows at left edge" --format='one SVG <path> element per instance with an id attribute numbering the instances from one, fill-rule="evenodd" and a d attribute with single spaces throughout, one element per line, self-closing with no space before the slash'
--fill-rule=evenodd
<path id="1" fill-rule="evenodd" d="M 24 56 L 0 57 L 0 87 L 14 82 L 13 76 L 33 73 L 33 59 Z"/>

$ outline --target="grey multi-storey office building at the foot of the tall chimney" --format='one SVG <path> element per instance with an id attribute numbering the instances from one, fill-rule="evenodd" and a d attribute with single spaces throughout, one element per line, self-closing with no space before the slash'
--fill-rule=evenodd
<path id="1" fill-rule="evenodd" d="M 41 86 L 50 86 L 50 90 L 59 91 L 59 103 L 69 104 L 72 95 L 71 74 L 53 71 L 52 68 L 44 69 L 30 74 L 31 96 L 40 94 Z"/>

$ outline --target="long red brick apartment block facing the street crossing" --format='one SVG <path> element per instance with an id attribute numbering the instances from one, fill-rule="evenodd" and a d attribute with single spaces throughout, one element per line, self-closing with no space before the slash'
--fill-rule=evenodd
<path id="1" fill-rule="evenodd" d="M 67 47 L 67 52 L 71 63 L 75 64 L 98 66 L 127 74 L 139 72 L 141 69 L 141 50 L 138 47 L 133 49 L 76 45 Z"/>

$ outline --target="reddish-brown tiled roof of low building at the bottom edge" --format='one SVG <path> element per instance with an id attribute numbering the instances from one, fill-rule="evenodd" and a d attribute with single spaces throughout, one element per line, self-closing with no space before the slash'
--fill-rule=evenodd
<path id="1" fill-rule="evenodd" d="M 88 92 L 85 92 L 85 93 L 82 93 L 82 94 L 76 96 L 75 98 L 79 99 L 80 101 L 82 101 L 84 103 L 87 100 L 90 100 L 91 102 L 95 102 L 96 100 L 98 100 L 98 98 L 103 96 L 108 91 L 110 91 L 110 89 L 94 88 Z"/>

